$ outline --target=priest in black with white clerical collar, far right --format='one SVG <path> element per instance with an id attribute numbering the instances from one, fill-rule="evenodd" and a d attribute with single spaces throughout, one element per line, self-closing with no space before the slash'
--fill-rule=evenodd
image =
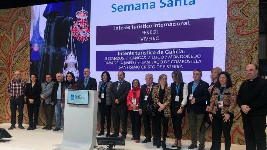
<path id="1" fill-rule="evenodd" d="M 258 66 L 246 67 L 248 80 L 239 88 L 237 103 L 241 108 L 246 150 L 266 148 L 267 80 L 258 76 Z"/>

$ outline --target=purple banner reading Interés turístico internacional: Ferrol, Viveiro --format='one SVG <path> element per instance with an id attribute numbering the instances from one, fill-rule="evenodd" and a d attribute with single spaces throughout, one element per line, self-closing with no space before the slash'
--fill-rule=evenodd
<path id="1" fill-rule="evenodd" d="M 214 40 L 214 18 L 96 27 L 96 45 Z"/>

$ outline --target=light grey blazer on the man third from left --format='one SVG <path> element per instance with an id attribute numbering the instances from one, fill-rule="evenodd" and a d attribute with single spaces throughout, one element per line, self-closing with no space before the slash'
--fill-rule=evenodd
<path id="1" fill-rule="evenodd" d="M 40 98 L 40 104 L 42 104 L 44 100 L 45 100 L 46 104 L 51 104 L 51 101 L 52 101 L 52 89 L 53 89 L 54 83 L 56 83 L 56 82 L 51 81 L 47 85 L 46 90 L 45 90 L 46 82 L 41 84 L 42 93 L 40 94 L 40 96 L 43 95 L 46 99 Z"/>

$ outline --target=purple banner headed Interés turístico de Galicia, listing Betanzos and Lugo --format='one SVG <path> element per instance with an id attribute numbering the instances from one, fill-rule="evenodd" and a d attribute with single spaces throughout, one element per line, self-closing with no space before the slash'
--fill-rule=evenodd
<path id="1" fill-rule="evenodd" d="M 97 51 L 96 60 L 96 71 L 210 71 L 213 47 Z"/>

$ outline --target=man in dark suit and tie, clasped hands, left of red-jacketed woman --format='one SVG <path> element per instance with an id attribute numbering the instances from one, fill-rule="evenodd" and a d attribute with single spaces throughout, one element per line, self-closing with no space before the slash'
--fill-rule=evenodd
<path id="1" fill-rule="evenodd" d="M 118 72 L 118 80 L 113 82 L 110 98 L 112 103 L 113 112 L 113 128 L 114 133 L 110 137 L 119 136 L 120 120 L 122 122 L 121 137 L 126 138 L 127 135 L 127 95 L 131 89 L 131 84 L 124 80 L 125 73 L 123 71 Z"/>

